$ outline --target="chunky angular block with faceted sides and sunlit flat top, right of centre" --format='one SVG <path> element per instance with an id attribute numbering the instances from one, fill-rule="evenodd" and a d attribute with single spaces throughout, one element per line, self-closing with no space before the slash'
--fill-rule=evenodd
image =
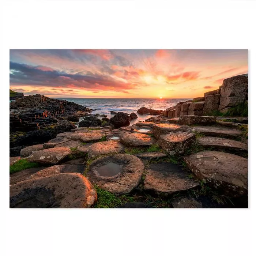
<path id="1" fill-rule="evenodd" d="M 161 135 L 157 145 L 169 155 L 184 155 L 185 151 L 195 142 L 195 139 L 195 133 L 189 131 L 171 132 L 167 135 Z"/>

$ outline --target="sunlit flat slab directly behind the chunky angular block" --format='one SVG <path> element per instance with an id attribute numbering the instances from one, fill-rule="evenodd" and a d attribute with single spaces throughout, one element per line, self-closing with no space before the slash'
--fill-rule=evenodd
<path id="1" fill-rule="evenodd" d="M 191 131 L 191 128 L 188 125 L 180 124 L 155 124 L 153 126 L 153 134 L 155 138 L 159 139 L 161 135 L 165 135 L 170 132 L 187 132 Z"/>

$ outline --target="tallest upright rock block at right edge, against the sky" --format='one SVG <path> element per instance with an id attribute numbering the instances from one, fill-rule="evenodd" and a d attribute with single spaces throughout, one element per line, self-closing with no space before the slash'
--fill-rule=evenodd
<path id="1" fill-rule="evenodd" d="M 223 80 L 219 110 L 237 106 L 248 99 L 248 74 Z"/>

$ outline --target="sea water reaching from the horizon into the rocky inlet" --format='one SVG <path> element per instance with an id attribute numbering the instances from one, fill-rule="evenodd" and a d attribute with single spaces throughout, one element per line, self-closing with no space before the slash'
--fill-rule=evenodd
<path id="1" fill-rule="evenodd" d="M 137 119 L 132 120 L 131 124 L 137 123 L 138 121 L 144 121 L 145 119 L 151 117 L 150 115 L 140 115 L 137 110 L 142 107 L 152 108 L 157 110 L 165 110 L 166 108 L 176 106 L 178 102 L 188 101 L 190 99 L 65 99 L 67 101 L 75 102 L 79 105 L 86 106 L 88 108 L 94 109 L 92 114 L 105 114 L 108 118 L 113 117 L 110 114 L 110 110 L 116 112 L 125 112 L 131 114 L 135 112 L 138 116 Z"/>

